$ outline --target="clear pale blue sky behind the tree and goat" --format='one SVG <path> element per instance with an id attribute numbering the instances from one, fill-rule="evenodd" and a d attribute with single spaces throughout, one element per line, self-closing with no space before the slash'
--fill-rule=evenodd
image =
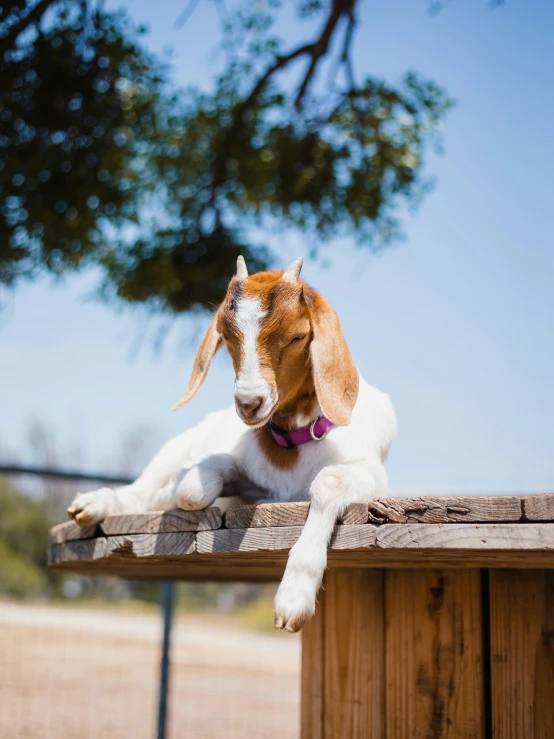
<path id="1" fill-rule="evenodd" d="M 153 49 L 173 46 L 180 83 L 206 84 L 217 16 L 203 0 L 176 30 L 185 4 L 128 7 L 150 26 Z M 428 159 L 437 186 L 406 219 L 406 240 L 379 256 L 337 242 L 324 250 L 332 267 L 308 261 L 303 271 L 338 310 L 364 377 L 395 403 L 394 492 L 554 489 L 553 35 L 554 4 L 544 0 L 495 10 L 453 0 L 433 17 L 425 0 L 363 3 L 359 72 L 397 80 L 415 69 L 458 101 L 444 156 Z M 284 262 L 308 250 L 295 234 L 279 248 Z M 62 461 L 88 468 L 113 467 L 121 439 L 142 436 L 138 468 L 166 437 L 231 401 L 221 356 L 192 405 L 169 413 L 205 323 L 179 319 L 156 355 L 159 322 L 90 299 L 95 282 L 92 273 L 43 279 L 7 298 L 4 457 L 35 461 L 28 427 L 40 419 Z"/>

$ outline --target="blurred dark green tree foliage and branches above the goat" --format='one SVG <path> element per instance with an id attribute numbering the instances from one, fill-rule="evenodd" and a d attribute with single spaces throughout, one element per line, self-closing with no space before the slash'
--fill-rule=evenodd
<path id="1" fill-rule="evenodd" d="M 218 302 L 239 253 L 276 261 L 252 226 L 389 243 L 451 102 L 413 72 L 356 79 L 360 3 L 295 0 L 321 29 L 292 49 L 279 0 L 238 6 L 208 92 L 175 89 L 121 12 L 3 3 L 0 282 L 96 265 L 106 299 L 180 312 Z"/>

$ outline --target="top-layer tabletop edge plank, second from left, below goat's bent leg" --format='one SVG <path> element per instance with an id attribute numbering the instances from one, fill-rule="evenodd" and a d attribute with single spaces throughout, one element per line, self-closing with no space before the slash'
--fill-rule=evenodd
<path id="1" fill-rule="evenodd" d="M 100 524 L 106 536 L 116 534 L 170 534 L 175 531 L 207 531 L 219 529 L 222 515 L 219 508 L 203 511 L 151 511 L 133 515 L 108 516 Z"/>

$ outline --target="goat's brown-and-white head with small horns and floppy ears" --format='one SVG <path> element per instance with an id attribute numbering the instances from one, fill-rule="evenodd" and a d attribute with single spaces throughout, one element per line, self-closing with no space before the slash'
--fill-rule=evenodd
<path id="1" fill-rule="evenodd" d="M 192 399 L 224 343 L 235 369 L 237 413 L 249 426 L 263 426 L 310 390 L 328 418 L 349 422 L 358 373 L 335 311 L 300 280 L 301 267 L 299 258 L 284 272 L 248 276 L 239 257 L 237 274 L 198 350 L 187 392 L 174 409 Z"/>

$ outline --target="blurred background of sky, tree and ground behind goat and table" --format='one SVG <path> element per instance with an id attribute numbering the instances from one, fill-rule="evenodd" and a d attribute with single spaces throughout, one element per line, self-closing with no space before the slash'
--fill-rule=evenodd
<path id="1" fill-rule="evenodd" d="M 209 312 L 307 257 L 396 406 L 391 494 L 552 490 L 554 6 L 0 5 L 0 465 L 135 476 L 232 400 Z M 0 474 L 0 737 L 152 737 L 154 584 L 46 570 L 75 491 Z M 273 587 L 179 585 L 167 736 L 296 737 Z M 217 705 L 217 711 L 214 711 Z"/>

